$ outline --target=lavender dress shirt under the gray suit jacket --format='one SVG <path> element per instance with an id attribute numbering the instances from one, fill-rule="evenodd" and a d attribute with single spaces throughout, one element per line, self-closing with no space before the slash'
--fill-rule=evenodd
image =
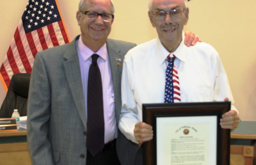
<path id="1" fill-rule="evenodd" d="M 107 54 L 106 43 L 97 51 L 93 52 L 82 41 L 82 37 L 76 41 L 76 47 L 79 57 L 79 64 L 82 76 L 83 92 L 85 97 L 85 111 L 87 114 L 87 84 L 89 68 L 92 63 L 91 56 L 93 54 L 99 55 L 97 63 L 100 69 L 102 80 L 102 94 L 103 94 L 103 109 L 104 109 L 104 142 L 107 143 L 117 138 L 117 121 L 115 111 L 115 98 L 113 81 L 110 70 L 109 57 Z"/>

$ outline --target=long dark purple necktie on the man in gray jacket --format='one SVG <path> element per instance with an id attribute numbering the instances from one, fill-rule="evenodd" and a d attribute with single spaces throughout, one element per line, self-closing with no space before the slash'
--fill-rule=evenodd
<path id="1" fill-rule="evenodd" d="M 97 64 L 99 55 L 93 54 L 87 86 L 87 139 L 86 147 L 92 156 L 104 148 L 104 115 L 100 70 Z"/>

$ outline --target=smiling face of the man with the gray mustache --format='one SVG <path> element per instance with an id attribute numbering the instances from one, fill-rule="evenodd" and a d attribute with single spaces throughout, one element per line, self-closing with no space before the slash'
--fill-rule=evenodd
<path id="1" fill-rule="evenodd" d="M 156 28 L 158 37 L 165 47 L 174 45 L 179 46 L 182 41 L 182 31 L 184 25 L 188 22 L 188 8 L 182 12 L 181 18 L 173 19 L 169 14 L 166 14 L 162 21 L 157 21 L 153 13 L 157 11 L 169 11 L 171 9 L 179 9 L 183 11 L 185 8 L 183 0 L 153 0 L 152 11 L 149 11 L 149 18 L 153 27 Z M 152 13 L 153 12 L 153 13 Z"/>

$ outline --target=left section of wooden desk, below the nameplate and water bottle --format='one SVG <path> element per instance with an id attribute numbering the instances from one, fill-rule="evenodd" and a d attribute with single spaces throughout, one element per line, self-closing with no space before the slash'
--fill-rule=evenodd
<path id="1" fill-rule="evenodd" d="M 31 165 L 28 152 L 27 131 L 0 132 L 0 164 Z"/>

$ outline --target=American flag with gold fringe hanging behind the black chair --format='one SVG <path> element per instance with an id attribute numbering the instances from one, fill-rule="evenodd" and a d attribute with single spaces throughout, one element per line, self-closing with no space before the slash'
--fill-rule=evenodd
<path id="1" fill-rule="evenodd" d="M 69 37 L 57 0 L 29 0 L 0 68 L 5 90 L 14 73 L 31 73 L 37 52 L 65 43 Z"/>

